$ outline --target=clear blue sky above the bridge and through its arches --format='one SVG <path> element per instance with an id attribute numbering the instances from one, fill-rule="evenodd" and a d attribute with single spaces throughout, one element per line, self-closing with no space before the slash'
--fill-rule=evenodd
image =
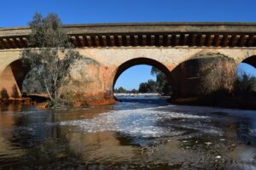
<path id="1" fill-rule="evenodd" d="M 26 26 L 35 12 L 44 15 L 58 14 L 63 24 L 153 21 L 255 22 L 255 7 L 255 0 L 3 0 L 0 27 Z M 242 68 L 256 75 L 255 70 L 246 66 Z M 119 77 L 116 85 L 137 88 L 138 83 L 154 78 L 150 76 L 150 69 L 147 65 L 132 67 Z M 129 76 L 132 73 L 140 73 L 141 76 Z"/>

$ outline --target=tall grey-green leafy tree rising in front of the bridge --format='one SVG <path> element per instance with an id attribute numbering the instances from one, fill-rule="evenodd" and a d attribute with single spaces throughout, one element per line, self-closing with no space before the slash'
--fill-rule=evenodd
<path id="1" fill-rule="evenodd" d="M 29 26 L 29 48 L 20 58 L 33 70 L 32 77 L 45 88 L 50 105 L 64 104 L 67 96 L 62 88 L 68 83 L 71 66 L 82 57 L 73 51 L 73 45 L 68 41 L 56 14 L 48 14 L 45 18 L 35 14 Z"/>

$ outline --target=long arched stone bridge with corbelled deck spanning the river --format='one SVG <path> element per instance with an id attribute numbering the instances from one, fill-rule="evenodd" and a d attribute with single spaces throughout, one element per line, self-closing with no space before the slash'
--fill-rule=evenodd
<path id="1" fill-rule="evenodd" d="M 256 67 L 256 23 L 125 23 L 67 25 L 75 50 L 84 59 L 73 66 L 67 90 L 74 101 L 113 102 L 113 86 L 133 65 L 153 65 L 177 83 L 177 93 L 193 94 L 196 59 L 224 54 Z M 0 90 L 21 91 L 28 69 L 20 62 L 28 27 L 0 28 Z M 211 55 L 213 54 L 213 55 Z M 200 56 L 200 57 L 199 57 Z M 211 57 L 210 57 L 211 58 Z M 172 71 L 178 70 L 173 78 Z M 134 75 L 136 77 L 136 75 Z M 194 85 L 193 85 L 194 84 Z M 19 92 L 20 93 L 20 92 Z"/>

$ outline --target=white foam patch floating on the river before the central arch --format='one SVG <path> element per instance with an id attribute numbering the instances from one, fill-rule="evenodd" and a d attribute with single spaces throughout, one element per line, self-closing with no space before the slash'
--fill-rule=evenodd
<path id="1" fill-rule="evenodd" d="M 61 125 L 77 126 L 87 133 L 97 133 L 104 131 L 115 131 L 136 137 L 160 137 L 173 136 L 181 131 L 177 131 L 172 126 L 162 126 L 160 122 L 172 121 L 172 119 L 207 119 L 209 116 L 198 116 L 195 114 L 185 114 L 175 111 L 157 111 L 155 109 L 135 109 L 109 111 L 92 119 L 61 122 Z M 200 126 L 199 126 L 200 125 Z M 206 133 L 221 133 L 216 127 L 206 127 L 201 123 L 189 128 L 201 130 Z M 212 128 L 212 131 L 210 129 Z M 213 132 L 214 131 L 214 132 Z M 215 132 L 218 131 L 218 132 Z"/>

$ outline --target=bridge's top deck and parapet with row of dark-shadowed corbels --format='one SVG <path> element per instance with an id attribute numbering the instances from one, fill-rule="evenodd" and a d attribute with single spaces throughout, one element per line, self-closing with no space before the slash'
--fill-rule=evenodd
<path id="1" fill-rule="evenodd" d="M 65 25 L 83 47 L 256 47 L 256 23 L 120 23 Z M 0 28 L 0 49 L 27 48 L 28 27 Z"/>

